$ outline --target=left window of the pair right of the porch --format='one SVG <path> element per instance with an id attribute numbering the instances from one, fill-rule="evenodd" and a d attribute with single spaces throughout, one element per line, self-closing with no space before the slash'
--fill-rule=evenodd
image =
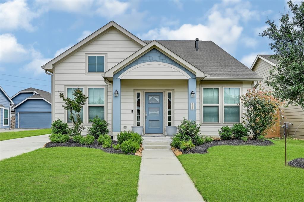
<path id="1" fill-rule="evenodd" d="M 219 122 L 219 88 L 203 88 L 203 122 Z"/>

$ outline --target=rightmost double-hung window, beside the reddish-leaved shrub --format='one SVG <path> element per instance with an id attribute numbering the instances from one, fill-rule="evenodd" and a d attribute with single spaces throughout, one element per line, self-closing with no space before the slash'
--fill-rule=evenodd
<path id="1" fill-rule="evenodd" d="M 224 87 L 224 123 L 240 122 L 240 88 Z"/>

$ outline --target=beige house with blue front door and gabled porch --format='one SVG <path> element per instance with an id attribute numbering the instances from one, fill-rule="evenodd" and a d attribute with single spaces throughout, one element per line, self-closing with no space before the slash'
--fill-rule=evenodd
<path id="1" fill-rule="evenodd" d="M 185 117 L 204 135 L 240 123 L 240 95 L 262 78 L 212 41 L 143 41 L 111 21 L 42 66 L 52 76 L 52 120 L 71 125 L 58 91 L 88 101 L 84 126 L 98 115 L 113 138 L 132 126 L 165 135 Z M 86 132 L 86 131 L 85 131 Z"/>

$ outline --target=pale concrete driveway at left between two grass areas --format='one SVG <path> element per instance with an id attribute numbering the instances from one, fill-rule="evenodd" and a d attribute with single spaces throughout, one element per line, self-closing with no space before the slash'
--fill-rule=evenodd
<path id="1" fill-rule="evenodd" d="M 42 148 L 50 142 L 49 135 L 37 135 L 0 141 L 0 160 Z"/>

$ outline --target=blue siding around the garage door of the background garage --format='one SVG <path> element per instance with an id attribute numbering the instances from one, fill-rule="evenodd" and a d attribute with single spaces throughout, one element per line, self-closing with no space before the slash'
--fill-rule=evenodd
<path id="1" fill-rule="evenodd" d="M 50 112 L 51 104 L 42 99 L 29 99 L 15 108 L 15 110 L 15 127 L 18 128 L 18 112 Z M 34 128 L 39 128 L 39 125 L 36 124 L 36 127 Z"/>

